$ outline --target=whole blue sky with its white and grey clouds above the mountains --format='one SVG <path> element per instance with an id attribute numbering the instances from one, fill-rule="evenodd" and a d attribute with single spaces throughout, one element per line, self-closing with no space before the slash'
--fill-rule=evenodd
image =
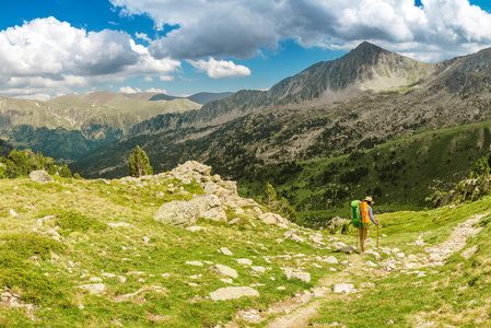
<path id="1" fill-rule="evenodd" d="M 363 40 L 421 61 L 491 46 L 467 0 L 0 0 L 0 94 L 269 89 Z"/>

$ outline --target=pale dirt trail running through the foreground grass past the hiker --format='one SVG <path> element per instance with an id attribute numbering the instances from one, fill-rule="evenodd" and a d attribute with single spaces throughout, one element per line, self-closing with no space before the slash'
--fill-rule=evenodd
<path id="1" fill-rule="evenodd" d="M 444 259 L 449 257 L 453 253 L 463 249 L 466 246 L 466 239 L 468 236 L 477 235 L 481 229 L 474 227 L 483 216 L 488 215 L 474 215 L 469 220 L 457 224 L 455 230 L 452 232 L 451 236 L 442 244 L 426 247 L 425 251 L 430 254 L 430 259 L 424 260 L 419 267 L 432 266 L 435 262 L 441 263 Z M 464 255 L 465 256 L 465 255 Z M 247 316 L 249 313 L 242 313 L 239 316 L 249 323 L 260 323 L 265 320 L 271 314 L 284 313 L 284 316 L 276 318 L 273 321 L 269 323 L 266 328 L 302 328 L 308 326 L 308 320 L 318 312 L 323 298 L 326 297 L 342 297 L 342 294 L 332 294 L 330 291 L 332 285 L 336 283 L 349 283 L 351 282 L 352 276 L 366 274 L 366 261 L 363 257 L 354 255 L 350 258 L 351 266 L 347 269 L 340 271 L 336 276 L 331 276 L 327 279 L 320 281 L 320 288 L 315 289 L 314 293 L 308 295 L 304 293 L 297 297 L 293 297 L 285 302 L 280 302 L 272 305 L 267 313 L 257 314 L 255 317 Z M 381 273 L 382 270 L 377 270 Z M 389 274 L 390 271 L 386 271 L 384 274 Z M 230 323 L 232 324 L 232 323 Z M 227 328 L 238 327 L 234 324 L 227 325 Z"/>

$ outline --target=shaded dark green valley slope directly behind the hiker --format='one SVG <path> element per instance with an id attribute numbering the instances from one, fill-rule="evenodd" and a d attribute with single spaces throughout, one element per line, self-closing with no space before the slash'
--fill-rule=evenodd
<path id="1" fill-rule="evenodd" d="M 489 155 L 490 127 L 488 121 L 425 131 L 351 155 L 297 162 L 296 168 L 265 166 L 241 179 L 239 191 L 255 197 L 269 180 L 307 225 L 323 224 L 334 215 L 346 218 L 350 200 L 366 195 L 375 197 L 378 213 L 423 209 L 429 206 L 426 197 L 452 189 L 479 157 Z M 356 178 L 352 172 L 360 169 L 366 172 Z"/>

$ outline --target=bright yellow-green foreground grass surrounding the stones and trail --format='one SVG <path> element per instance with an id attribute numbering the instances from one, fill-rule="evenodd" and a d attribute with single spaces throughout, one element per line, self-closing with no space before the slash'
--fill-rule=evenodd
<path id="1" fill-rule="evenodd" d="M 118 320 L 126 327 L 209 327 L 229 321 L 237 309 L 254 307 L 265 311 L 270 304 L 317 285 L 322 280 L 342 274 L 343 266 L 327 265 L 316 260 L 316 256 L 335 255 L 339 260 L 350 261 L 358 257 L 322 249 L 307 242 L 287 239 L 278 243 L 277 239 L 282 237 L 284 230 L 266 226 L 258 220 L 254 221 L 256 226 L 253 226 L 247 215 L 239 216 L 239 224 L 233 226 L 200 221 L 199 225 L 207 226 L 208 231 L 198 233 L 165 226 L 152 219 L 160 204 L 172 199 L 191 197 L 166 192 L 168 183 L 171 181 L 161 180 L 159 185 L 148 183 L 144 186 L 113 180 L 107 185 L 102 180 L 56 178 L 55 184 L 36 185 L 28 179 L 0 180 L 0 226 L 3 242 L 0 249 L 0 283 L 21 294 L 26 302 L 39 306 L 35 312 L 36 321 L 27 318 L 24 311 L 0 308 L 0 325 L 106 327 L 112 325 L 112 320 Z M 172 183 L 179 185 L 176 180 Z M 185 187 L 190 192 L 202 192 L 194 184 Z M 159 191 L 164 191 L 167 196 L 156 198 Z M 490 207 L 491 198 L 484 198 L 455 209 L 386 213 L 378 216 L 385 225 L 381 233 L 388 235 L 381 244 L 399 247 L 406 254 L 416 254 L 422 248 L 408 246 L 407 243 L 414 241 L 421 233 L 430 232 L 424 236 L 429 245 L 441 243 L 458 222 L 467 220 L 474 213 L 486 213 Z M 12 216 L 10 210 L 14 210 L 17 215 Z M 44 219 L 43 224 L 39 224 L 39 218 L 51 214 L 57 216 Z M 234 216 L 236 214 L 229 213 L 229 219 Z M 71 219 L 73 220 L 70 221 Z M 133 226 L 113 229 L 107 226 L 109 222 L 127 222 Z M 56 225 L 61 226 L 58 229 L 62 237 L 60 243 L 42 234 Z M 471 242 L 479 246 L 479 251 L 470 260 L 463 261 L 455 255 L 446 267 L 428 270 L 437 271 L 439 274 L 428 274 L 424 279 L 416 279 L 402 272 L 391 273 L 386 278 L 371 278 L 375 288 L 361 292 L 356 297 L 327 298 L 325 308 L 319 312 L 319 317 L 313 319 L 314 323 L 340 321 L 348 326 L 376 327 L 378 320 L 385 320 L 389 316 L 405 327 L 410 326 L 414 315 L 441 308 L 445 312 L 435 315 L 437 320 L 453 320 L 459 323 L 457 325 L 465 323 L 467 317 L 458 318 L 457 314 L 484 308 L 488 306 L 486 300 L 491 296 L 491 289 L 487 284 L 490 262 L 486 256 L 491 248 L 491 242 L 486 237 L 490 229 L 491 226 L 487 226 Z M 145 236 L 150 238 L 149 243 L 143 242 Z M 330 238 L 325 232 L 323 236 L 325 242 Z M 350 244 L 354 239 L 353 235 L 336 237 Z M 231 249 L 234 256 L 217 251 L 223 246 Z M 292 260 L 274 258 L 285 254 L 305 256 L 293 257 Z M 31 258 L 33 255 L 38 258 Z M 383 259 L 386 257 L 383 255 Z M 265 274 L 253 276 L 250 268 L 237 265 L 235 258 L 248 258 L 254 266 L 269 269 Z M 364 256 L 364 259 L 374 260 L 371 255 Z M 204 268 L 186 266 L 188 260 L 210 261 L 236 269 L 238 278 L 234 279 L 233 285 L 264 284 L 255 286 L 260 292 L 260 297 L 225 302 L 207 298 L 210 292 L 229 284 L 220 281 L 219 274 L 207 269 L 211 265 L 206 263 Z M 463 265 L 457 266 L 460 262 Z M 287 281 L 281 267 L 303 268 L 311 272 L 313 281 Z M 329 267 L 335 267 L 338 271 L 331 272 Z M 144 273 L 127 274 L 131 271 Z M 126 277 L 127 281 L 120 283 L 116 279 L 103 279 L 106 291 L 102 296 L 78 289 L 80 284 L 97 283 L 90 279 L 100 278 L 102 272 Z M 169 276 L 164 278 L 163 273 Z M 194 274 L 202 277 L 191 279 L 190 276 Z M 451 281 L 451 277 L 455 279 Z M 356 288 L 363 282 L 361 278 L 350 278 L 354 280 Z M 423 285 L 411 289 L 412 283 L 418 281 L 424 281 Z M 436 292 L 431 290 L 434 281 L 439 283 Z M 198 285 L 190 286 L 189 282 Z M 278 286 L 287 289 L 280 291 L 277 290 Z M 459 290 L 460 286 L 467 289 Z M 139 290 L 143 291 L 130 301 L 114 302 L 118 295 Z M 394 297 L 404 302 L 393 302 Z M 192 298 L 195 300 L 191 302 Z M 469 305 L 475 298 L 479 301 Z M 369 309 L 365 307 L 363 315 L 352 316 L 353 308 L 360 308 L 366 301 L 374 305 Z M 79 308 L 80 305 L 84 308 Z M 447 319 L 445 316 L 451 314 L 455 314 L 455 317 Z M 257 326 L 261 325 L 264 324 Z"/>

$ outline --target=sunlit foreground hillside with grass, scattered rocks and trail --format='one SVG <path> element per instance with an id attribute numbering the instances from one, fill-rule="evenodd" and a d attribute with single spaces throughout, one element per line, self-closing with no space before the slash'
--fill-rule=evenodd
<path id="1" fill-rule="evenodd" d="M 346 244 L 355 246 L 352 232 L 270 221 L 209 169 L 186 163 L 143 179 L 0 180 L 2 325 L 489 323 L 490 197 L 376 215 L 381 247 L 372 227 L 370 251 L 360 256 L 343 253 L 350 250 Z M 173 200 L 207 192 L 218 196 L 207 196 L 213 198 L 208 206 L 217 215 L 225 209 L 226 221 L 203 219 L 202 210 L 187 229 L 153 219 Z"/>

